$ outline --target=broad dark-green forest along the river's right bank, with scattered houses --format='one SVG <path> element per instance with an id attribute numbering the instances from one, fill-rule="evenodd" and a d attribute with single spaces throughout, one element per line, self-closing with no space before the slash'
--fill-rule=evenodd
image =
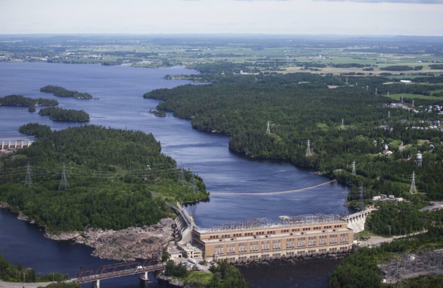
<path id="1" fill-rule="evenodd" d="M 383 85 L 387 80 L 383 77 L 349 77 L 350 83 L 358 81 L 358 86 L 351 87 L 345 86 L 340 77 L 303 73 L 195 77 L 212 77 L 213 84 L 158 89 L 144 97 L 163 100 L 158 109 L 191 118 L 196 129 L 231 135 L 232 151 L 287 159 L 296 165 L 314 167 L 352 187 L 363 186 L 368 205 L 378 205 L 370 199 L 379 194 L 408 199 L 410 203 L 393 204 L 398 207 L 392 211 L 402 219 L 390 221 L 393 234 L 419 231 L 430 223 L 441 222 L 439 215 L 432 214 L 425 221 L 418 212 L 426 201 L 443 199 L 443 138 L 437 129 L 427 129 L 429 124 L 424 122 L 441 117 L 436 111 L 421 109 L 414 113 L 386 106 L 396 102 L 386 97 L 388 91 L 423 93 L 441 89 L 441 85 Z M 331 89 L 326 84 L 342 86 Z M 405 104 L 411 106 L 411 102 L 408 99 Z M 415 107 L 432 104 L 443 105 L 443 100 L 415 99 Z M 270 134 L 266 134 L 267 121 Z M 306 156 L 308 139 L 312 155 Z M 386 147 L 393 155 L 383 155 Z M 422 166 L 414 161 L 419 152 L 423 154 Z M 356 176 L 352 175 L 354 160 Z M 412 172 L 424 195 L 409 194 Z M 358 190 L 354 188 L 349 196 L 351 202 L 359 197 L 355 192 Z M 414 212 L 408 214 L 409 208 Z M 374 217 L 369 223 L 379 233 L 388 233 L 386 219 Z"/>

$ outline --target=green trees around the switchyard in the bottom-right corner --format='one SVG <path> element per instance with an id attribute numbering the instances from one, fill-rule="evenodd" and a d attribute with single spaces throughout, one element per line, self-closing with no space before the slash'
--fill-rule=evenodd
<path id="1" fill-rule="evenodd" d="M 384 287 L 382 273 L 377 267 L 383 260 L 399 254 L 416 253 L 426 249 L 443 248 L 443 228 L 433 227 L 428 232 L 383 243 L 377 248 L 361 248 L 343 259 L 329 277 L 328 288 Z M 413 282 L 413 280 L 411 280 Z M 423 285 L 419 287 L 434 287 Z"/>

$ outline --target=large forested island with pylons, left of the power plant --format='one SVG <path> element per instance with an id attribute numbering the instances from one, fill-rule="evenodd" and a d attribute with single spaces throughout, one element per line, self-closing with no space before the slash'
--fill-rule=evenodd
<path id="1" fill-rule="evenodd" d="M 51 132 L 39 124 L 20 131 L 41 137 L 0 158 L 0 201 L 50 231 L 150 225 L 171 215 L 165 201 L 208 197 L 197 176 L 195 192 L 190 189 L 191 171 L 177 184 L 176 163 L 152 134 L 97 126 Z M 25 181 L 28 163 L 32 184 Z"/>

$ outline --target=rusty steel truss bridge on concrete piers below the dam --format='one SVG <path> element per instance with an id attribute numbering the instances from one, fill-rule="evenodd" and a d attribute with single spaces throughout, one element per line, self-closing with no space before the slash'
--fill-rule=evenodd
<path id="1" fill-rule="evenodd" d="M 164 270 L 163 263 L 157 260 L 147 259 L 144 262 L 132 261 L 121 262 L 112 265 L 99 267 L 95 272 L 92 269 L 81 266 L 77 273 L 77 278 L 72 278 L 69 282 L 87 283 L 92 282 L 94 287 L 100 287 L 100 280 L 111 279 L 116 277 L 140 274 L 140 279 L 147 281 L 148 273 Z"/>

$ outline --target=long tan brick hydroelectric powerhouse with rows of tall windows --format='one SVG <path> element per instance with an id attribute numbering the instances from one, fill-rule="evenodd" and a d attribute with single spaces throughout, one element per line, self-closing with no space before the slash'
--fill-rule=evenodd
<path id="1" fill-rule="evenodd" d="M 354 231 L 339 215 L 315 214 L 194 227 L 191 238 L 205 259 L 246 262 L 348 252 Z"/>

